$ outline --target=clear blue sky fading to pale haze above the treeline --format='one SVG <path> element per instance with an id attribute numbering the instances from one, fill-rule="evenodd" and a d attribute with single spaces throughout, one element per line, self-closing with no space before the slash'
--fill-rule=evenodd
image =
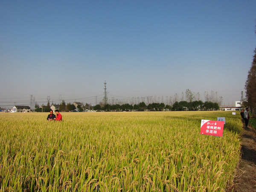
<path id="1" fill-rule="evenodd" d="M 217 92 L 232 105 L 256 48 L 256 0 L 0 1 L 0 107 Z"/>

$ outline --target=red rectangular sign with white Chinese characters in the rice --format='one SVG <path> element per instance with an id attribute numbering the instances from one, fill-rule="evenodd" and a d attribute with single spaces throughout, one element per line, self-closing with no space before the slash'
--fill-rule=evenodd
<path id="1" fill-rule="evenodd" d="M 224 121 L 201 120 L 201 134 L 222 137 Z"/>

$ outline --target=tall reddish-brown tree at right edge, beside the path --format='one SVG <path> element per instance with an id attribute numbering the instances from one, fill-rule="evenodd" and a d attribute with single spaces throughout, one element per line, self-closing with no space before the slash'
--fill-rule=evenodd
<path id="1" fill-rule="evenodd" d="M 245 83 L 247 105 L 251 113 L 256 114 L 256 48 L 254 50 L 253 62 L 248 72 Z"/>

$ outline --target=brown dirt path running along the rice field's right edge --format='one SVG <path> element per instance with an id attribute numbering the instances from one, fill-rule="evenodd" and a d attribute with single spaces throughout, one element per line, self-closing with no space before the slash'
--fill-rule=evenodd
<path id="1" fill-rule="evenodd" d="M 248 128 L 241 138 L 241 160 L 234 185 L 227 191 L 256 192 L 256 130 Z"/>

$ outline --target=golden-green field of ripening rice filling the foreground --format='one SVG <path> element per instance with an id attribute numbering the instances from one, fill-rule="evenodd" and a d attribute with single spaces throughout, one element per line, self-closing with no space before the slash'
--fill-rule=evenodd
<path id="1" fill-rule="evenodd" d="M 214 192 L 232 185 L 240 114 L 0 113 L 0 191 Z M 224 136 L 201 119 L 226 117 Z"/>

